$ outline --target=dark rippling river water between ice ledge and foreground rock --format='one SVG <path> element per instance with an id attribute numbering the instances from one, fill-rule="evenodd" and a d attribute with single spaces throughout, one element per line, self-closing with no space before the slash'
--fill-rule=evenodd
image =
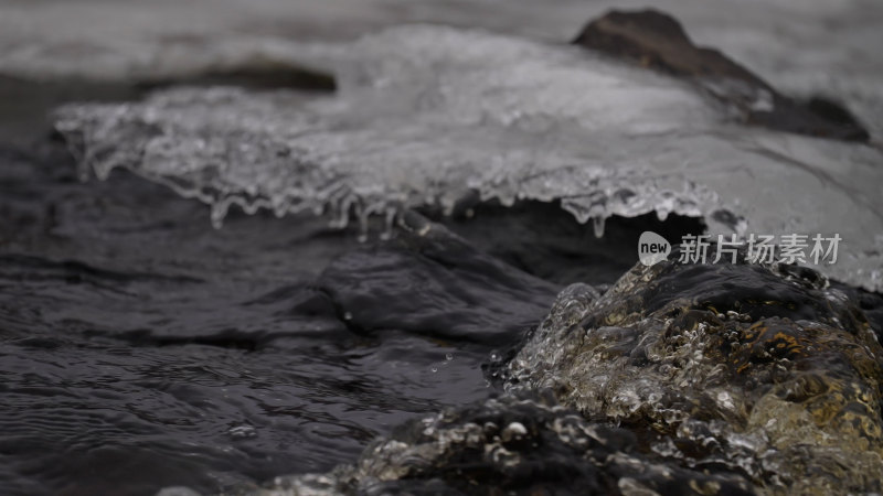
<path id="1" fill-rule="evenodd" d="M 360 242 L 313 216 L 214 229 L 130 173 L 78 181 L 50 138 L 0 163 L 4 494 L 213 492 L 349 462 L 486 397 L 482 364 L 563 283 L 609 284 L 640 230 L 661 230 L 624 219 L 596 239 L 544 205 L 449 222 L 474 244 Z"/>

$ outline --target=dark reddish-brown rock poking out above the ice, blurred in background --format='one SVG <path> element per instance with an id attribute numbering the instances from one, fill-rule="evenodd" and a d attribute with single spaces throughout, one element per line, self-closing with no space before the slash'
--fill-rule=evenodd
<path id="1" fill-rule="evenodd" d="M 870 139 L 842 106 L 781 95 L 721 52 L 694 45 L 674 18 L 657 10 L 611 11 L 589 22 L 574 43 L 690 79 L 746 123 L 847 141 Z"/>

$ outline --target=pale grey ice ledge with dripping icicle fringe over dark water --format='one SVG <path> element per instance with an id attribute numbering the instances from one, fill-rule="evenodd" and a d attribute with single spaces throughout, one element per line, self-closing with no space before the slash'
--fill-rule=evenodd
<path id="1" fill-rule="evenodd" d="M 366 228 L 477 192 L 560 202 L 599 236 L 606 218 L 648 212 L 703 216 L 712 234 L 839 234 L 837 263 L 819 269 L 883 288 L 879 147 L 745 126 L 746 108 L 777 100 L 709 96 L 738 82 L 698 90 L 578 46 L 432 25 L 225 57 L 327 71 L 337 90 L 175 87 L 66 106 L 56 128 L 84 176 L 129 169 L 211 204 L 217 225 L 237 204 Z"/>

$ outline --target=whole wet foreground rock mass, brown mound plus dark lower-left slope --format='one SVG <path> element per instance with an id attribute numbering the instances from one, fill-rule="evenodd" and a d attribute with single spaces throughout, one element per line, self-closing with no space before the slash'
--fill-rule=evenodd
<path id="1" fill-rule="evenodd" d="M 417 241 L 456 240 L 411 224 Z M 407 423 L 331 473 L 242 490 L 879 493 L 880 308 L 876 294 L 744 252 L 637 265 L 604 294 L 565 288 L 497 368 L 502 396 Z"/>

